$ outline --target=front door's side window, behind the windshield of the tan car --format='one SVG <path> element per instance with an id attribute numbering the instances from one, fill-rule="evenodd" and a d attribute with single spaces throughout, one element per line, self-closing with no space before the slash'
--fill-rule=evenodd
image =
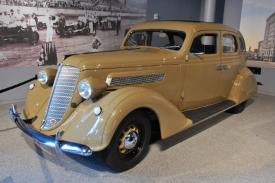
<path id="1" fill-rule="evenodd" d="M 190 54 L 216 54 L 217 34 L 199 34 L 195 37 Z"/>

